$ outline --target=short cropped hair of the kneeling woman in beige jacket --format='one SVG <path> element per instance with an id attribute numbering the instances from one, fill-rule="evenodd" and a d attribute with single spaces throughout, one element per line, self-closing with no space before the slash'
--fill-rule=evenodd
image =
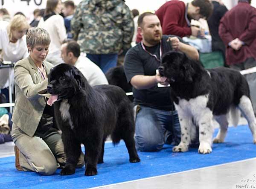
<path id="1" fill-rule="evenodd" d="M 38 27 L 32 27 L 28 30 L 26 34 L 26 43 L 31 49 L 36 45 L 49 45 L 51 43 L 49 33 Z"/>

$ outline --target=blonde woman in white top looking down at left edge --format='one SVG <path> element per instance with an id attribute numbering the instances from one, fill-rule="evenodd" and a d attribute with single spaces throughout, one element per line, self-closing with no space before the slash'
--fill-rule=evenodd
<path id="1" fill-rule="evenodd" d="M 0 58 L 3 61 L 15 63 L 29 55 L 25 35 L 29 28 L 23 15 L 16 15 L 10 23 L 0 20 Z M 0 69 L 0 88 L 8 86 L 8 78 L 8 70 Z M 11 78 L 13 83 L 13 70 Z"/>

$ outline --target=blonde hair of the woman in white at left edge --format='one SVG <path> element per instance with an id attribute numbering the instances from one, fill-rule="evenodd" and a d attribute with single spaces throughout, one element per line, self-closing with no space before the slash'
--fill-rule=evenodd
<path id="1" fill-rule="evenodd" d="M 29 23 L 23 15 L 15 15 L 7 27 L 9 40 L 12 40 L 12 31 L 29 29 Z"/>

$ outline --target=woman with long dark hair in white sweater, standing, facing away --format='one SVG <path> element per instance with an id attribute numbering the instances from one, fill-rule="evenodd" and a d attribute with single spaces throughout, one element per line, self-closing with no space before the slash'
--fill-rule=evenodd
<path id="1" fill-rule="evenodd" d="M 46 61 L 57 65 L 63 63 L 61 59 L 61 42 L 67 38 L 64 18 L 61 13 L 61 0 L 47 0 L 44 17 L 38 23 L 38 27 L 44 28 L 50 35 L 51 44 Z"/>

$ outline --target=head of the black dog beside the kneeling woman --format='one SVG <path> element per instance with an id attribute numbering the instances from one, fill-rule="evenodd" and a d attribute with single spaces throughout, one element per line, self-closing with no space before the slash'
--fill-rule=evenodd
<path id="1" fill-rule="evenodd" d="M 58 100 L 69 99 L 84 89 L 87 80 L 74 66 L 59 64 L 51 69 L 48 78 L 47 92 L 58 95 Z"/>

